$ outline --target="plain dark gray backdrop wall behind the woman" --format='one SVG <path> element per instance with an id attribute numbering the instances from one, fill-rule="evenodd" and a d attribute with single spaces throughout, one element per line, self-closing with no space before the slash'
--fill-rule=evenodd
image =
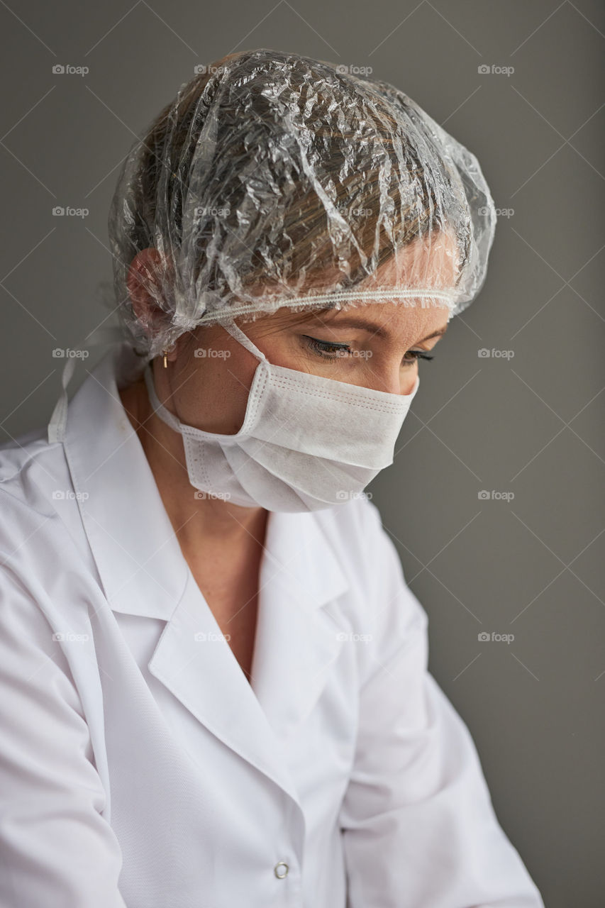
<path id="1" fill-rule="evenodd" d="M 52 350 L 76 348 L 103 321 L 95 292 L 111 278 L 117 168 L 194 64 L 269 47 L 370 65 L 410 94 L 477 154 L 496 205 L 513 213 L 499 218 L 480 298 L 421 363 L 395 463 L 368 491 L 429 614 L 431 672 L 471 729 L 503 828 L 549 908 L 596 908 L 605 893 L 603 5 L 216 7 L 0 5 L 0 440 L 47 421 L 63 365 Z M 53 74 L 55 64 L 90 72 Z M 491 64 L 514 73 L 478 72 Z M 56 205 L 89 214 L 54 217 Z M 79 365 L 70 397 L 83 377 Z M 481 642 L 481 632 L 514 640 Z"/>

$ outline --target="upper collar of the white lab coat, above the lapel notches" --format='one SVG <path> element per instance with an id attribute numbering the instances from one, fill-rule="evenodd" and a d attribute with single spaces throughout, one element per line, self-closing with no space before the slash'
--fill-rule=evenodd
<path id="1" fill-rule="evenodd" d="M 64 447 L 112 609 L 168 620 L 190 572 L 118 394 L 136 360 L 127 342 L 107 350 L 69 403 Z M 283 595 L 303 609 L 321 607 L 348 587 L 312 512 L 269 514 L 260 587 L 271 577 L 281 577 Z"/>

